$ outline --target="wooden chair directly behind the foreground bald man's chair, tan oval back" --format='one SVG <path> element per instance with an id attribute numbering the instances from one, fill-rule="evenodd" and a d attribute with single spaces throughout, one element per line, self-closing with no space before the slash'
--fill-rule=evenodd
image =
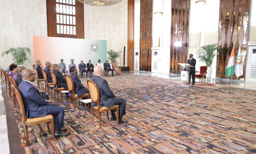
<path id="1" fill-rule="evenodd" d="M 72 98 L 73 99 L 73 105 L 74 105 L 74 111 L 76 111 L 75 99 L 89 97 L 90 94 L 86 93 L 86 94 L 78 97 L 78 95 L 75 93 L 75 90 L 74 90 L 74 81 L 73 81 L 73 79 L 71 78 L 71 76 L 69 76 L 67 74 L 65 75 L 65 77 L 66 77 L 67 84 L 68 84 L 68 91 L 72 92 L 72 95 L 69 97 L 69 107 L 71 107 L 71 98 Z M 79 114 L 80 114 L 80 102 L 79 102 L 78 110 L 79 110 Z"/>

